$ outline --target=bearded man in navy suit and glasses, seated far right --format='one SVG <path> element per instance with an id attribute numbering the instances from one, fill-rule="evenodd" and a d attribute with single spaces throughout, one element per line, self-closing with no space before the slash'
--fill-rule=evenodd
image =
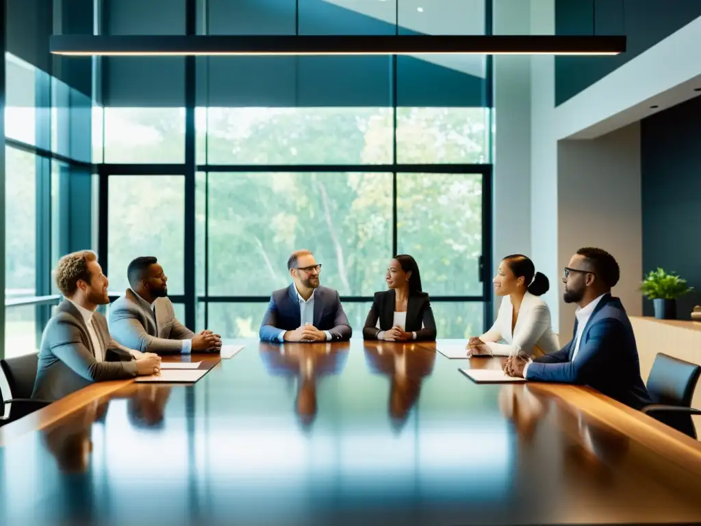
<path id="1" fill-rule="evenodd" d="M 634 409 L 650 404 L 628 315 L 620 299 L 611 296 L 619 277 L 611 254 L 600 248 L 580 248 L 562 278 L 564 301 L 578 305 L 572 339 L 560 351 L 535 360 L 509 358 L 506 374 L 585 384 Z"/>

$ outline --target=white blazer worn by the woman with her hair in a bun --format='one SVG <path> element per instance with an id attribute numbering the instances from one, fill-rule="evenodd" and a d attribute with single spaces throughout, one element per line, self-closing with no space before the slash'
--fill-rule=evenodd
<path id="1" fill-rule="evenodd" d="M 494 325 L 479 337 L 495 356 L 515 356 L 519 353 L 531 356 L 533 346 L 538 346 L 546 354 L 560 350 L 559 339 L 552 332 L 550 309 L 542 299 L 526 292 L 513 334 L 512 314 L 511 298 L 505 296 Z M 498 343 L 500 341 L 505 343 Z"/>

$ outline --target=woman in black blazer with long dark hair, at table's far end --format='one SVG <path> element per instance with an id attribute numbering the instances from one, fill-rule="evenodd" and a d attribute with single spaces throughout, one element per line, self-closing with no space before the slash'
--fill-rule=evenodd
<path id="1" fill-rule="evenodd" d="M 433 311 L 428 294 L 421 292 L 421 274 L 414 258 L 402 254 L 392 259 L 385 280 L 390 290 L 375 292 L 362 337 L 388 342 L 434 340 Z"/>

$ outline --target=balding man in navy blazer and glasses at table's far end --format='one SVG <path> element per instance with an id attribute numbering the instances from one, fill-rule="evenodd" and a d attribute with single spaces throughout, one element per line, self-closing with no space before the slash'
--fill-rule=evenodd
<path id="1" fill-rule="evenodd" d="M 321 265 L 309 250 L 287 259 L 292 285 L 275 290 L 261 323 L 264 342 L 339 342 L 352 330 L 339 293 L 319 286 Z"/>

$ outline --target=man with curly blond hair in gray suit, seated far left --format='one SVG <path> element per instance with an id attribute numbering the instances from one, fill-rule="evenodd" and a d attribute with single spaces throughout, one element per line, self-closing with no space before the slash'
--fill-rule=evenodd
<path id="1" fill-rule="evenodd" d="M 41 337 L 32 398 L 58 400 L 92 382 L 158 373 L 161 358 L 114 342 L 96 311 L 109 303 L 107 276 L 97 255 L 81 250 L 58 262 L 56 285 L 64 296 Z"/>

